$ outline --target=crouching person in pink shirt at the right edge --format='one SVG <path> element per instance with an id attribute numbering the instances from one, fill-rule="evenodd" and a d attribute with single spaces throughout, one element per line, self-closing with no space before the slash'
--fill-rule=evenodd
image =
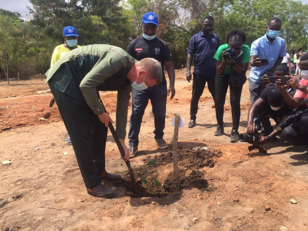
<path id="1" fill-rule="evenodd" d="M 291 79 L 287 82 L 288 87 L 296 89 L 294 97 L 291 97 L 284 87 L 279 87 L 286 103 L 290 105 L 292 109 L 304 105 L 308 107 L 308 53 L 303 54 L 300 57 L 299 68 L 302 71 L 302 79 L 298 83 L 297 79 Z M 294 121 L 295 119 L 295 121 Z M 294 118 L 290 118 L 290 121 L 285 121 L 285 126 L 291 123 L 282 131 L 282 137 L 286 140 L 294 141 L 297 144 L 307 145 L 308 138 L 308 112 L 301 111 L 294 115 Z M 282 126 L 283 128 L 284 126 Z M 280 129 L 280 128 L 278 128 Z"/>

